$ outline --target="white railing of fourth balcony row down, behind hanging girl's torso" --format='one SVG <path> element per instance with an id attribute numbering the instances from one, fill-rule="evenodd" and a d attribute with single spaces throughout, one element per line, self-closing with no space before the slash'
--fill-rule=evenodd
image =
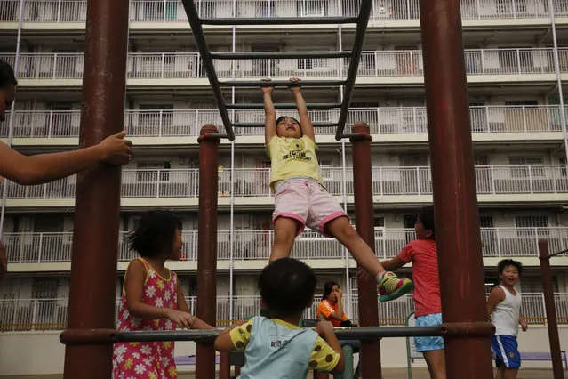
<path id="1" fill-rule="evenodd" d="M 480 165 L 476 166 L 478 195 L 503 194 L 564 194 L 568 193 L 568 173 L 565 165 Z M 353 195 L 353 170 L 340 167 L 322 168 L 327 190 L 343 195 L 345 181 L 347 195 Z M 196 198 L 199 194 L 198 169 L 123 170 L 122 198 Z M 239 198 L 271 197 L 270 169 L 236 168 L 234 195 Z M 5 181 L 4 181 L 5 182 Z M 2 184 L 4 185 L 4 183 Z M 1 188 L 1 185 L 0 185 Z M 230 196 L 230 170 L 219 173 L 219 196 Z M 10 199 L 75 198 L 76 175 L 59 181 L 21 186 L 8 181 Z M 428 166 L 372 167 L 374 196 L 431 195 L 432 180 Z"/>

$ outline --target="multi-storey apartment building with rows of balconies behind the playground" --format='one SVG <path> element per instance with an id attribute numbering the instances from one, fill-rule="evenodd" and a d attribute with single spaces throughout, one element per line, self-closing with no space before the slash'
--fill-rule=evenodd
<path id="1" fill-rule="evenodd" d="M 195 2 L 204 18 L 324 18 L 356 15 L 360 4 Z M 124 127 L 136 148 L 135 159 L 123 171 L 116 291 L 119 294 L 124 270 L 134 256 L 124 234 L 148 209 L 168 208 L 182 218 L 186 242 L 182 261 L 170 267 L 178 272 L 193 307 L 197 136 L 202 125 L 222 123 L 180 0 L 130 4 Z M 373 0 L 372 5 L 348 125 L 360 120 L 371 127 L 375 247 L 380 258 L 388 258 L 413 238 L 415 210 L 432 202 L 432 187 L 419 2 Z M 461 0 L 461 14 L 486 284 L 490 288 L 496 282 L 495 266 L 503 257 L 523 262 L 524 314 L 538 326 L 544 323 L 538 239 L 548 239 L 551 251 L 568 249 L 561 110 L 568 96 L 560 95 L 568 80 L 568 0 L 554 0 L 552 9 L 548 0 Z M 15 111 L 0 124 L 0 138 L 7 141 L 12 128 L 13 147 L 23 153 L 76 148 L 85 18 L 85 0 L 0 0 L 0 58 L 17 68 L 20 81 Z M 350 50 L 355 26 L 211 26 L 205 35 L 213 52 L 337 51 Z M 219 77 L 227 79 L 330 79 L 346 76 L 348 59 L 216 60 L 215 67 Z M 303 93 L 308 102 L 341 100 L 339 87 L 307 88 Z M 261 102 L 256 88 L 236 87 L 225 95 L 227 102 Z M 285 89 L 276 89 L 274 96 L 275 102 L 292 101 Z M 336 122 L 339 116 L 339 109 L 310 112 L 322 123 Z M 261 109 L 232 110 L 230 116 L 238 123 L 264 120 Z M 354 215 L 350 144 L 335 141 L 334 133 L 332 128 L 316 129 L 324 181 Z M 219 325 L 258 311 L 256 279 L 268 261 L 273 238 L 274 199 L 263 141 L 261 127 L 236 128 L 234 144 L 220 144 Z M 19 341 L 25 346 L 21 349 L 39 341 L 53 347 L 67 319 L 76 177 L 32 187 L 9 181 L 3 185 L 7 198 L 2 240 L 10 269 L 0 287 L 0 341 Z M 327 280 L 340 282 L 348 316 L 357 318 L 356 264 L 337 241 L 307 230 L 298 237 L 292 256 L 316 269 L 318 291 Z M 558 318 L 566 324 L 568 258 L 559 256 L 552 264 Z M 410 268 L 401 272 L 412 277 Z M 379 309 L 383 325 L 401 325 L 412 312 L 412 299 L 380 304 Z M 541 344 L 546 350 L 546 342 Z M 59 372 L 60 364 L 53 362 L 62 362 L 61 349 L 53 347 L 43 368 L 11 362 L 9 371 Z M 4 357 L 14 351 L 18 349 L 4 351 Z M 393 365 L 400 364 L 396 362 Z"/>

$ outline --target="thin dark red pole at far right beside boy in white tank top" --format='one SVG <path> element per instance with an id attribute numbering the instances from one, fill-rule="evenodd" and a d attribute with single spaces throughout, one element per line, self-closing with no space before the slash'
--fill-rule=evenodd
<path id="1" fill-rule="evenodd" d="M 552 372 L 554 379 L 564 379 L 562 368 L 562 355 L 558 324 L 556 321 L 556 306 L 554 303 L 554 290 L 552 288 L 552 273 L 550 272 L 550 258 L 548 257 L 548 241 L 539 241 L 540 276 L 542 277 L 542 292 L 544 293 L 544 306 L 547 311 L 548 342 L 550 343 L 550 357 L 552 359 Z"/>

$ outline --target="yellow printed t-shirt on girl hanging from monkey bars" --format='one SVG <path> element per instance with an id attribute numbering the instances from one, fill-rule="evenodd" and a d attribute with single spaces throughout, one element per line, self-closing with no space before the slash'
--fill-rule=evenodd
<path id="1" fill-rule="evenodd" d="M 272 137 L 267 145 L 268 157 L 272 163 L 270 187 L 274 190 L 276 181 L 294 176 L 307 176 L 324 186 L 316 149 L 316 143 L 305 135 L 301 138 Z"/>

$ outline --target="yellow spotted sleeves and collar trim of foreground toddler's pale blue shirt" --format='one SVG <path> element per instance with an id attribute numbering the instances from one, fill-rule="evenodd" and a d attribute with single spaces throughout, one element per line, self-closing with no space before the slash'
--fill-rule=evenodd
<path id="1" fill-rule="evenodd" d="M 270 320 L 275 322 L 277 325 L 284 327 L 284 330 L 300 329 L 300 327 L 292 325 L 281 319 Z M 231 341 L 233 342 L 233 346 L 235 347 L 236 351 L 244 351 L 246 345 L 251 340 L 253 322 L 254 318 L 249 319 L 245 324 L 236 327 L 229 332 Z M 339 361 L 340 354 L 337 351 L 334 351 L 322 337 L 318 336 L 316 343 L 314 343 L 314 347 L 312 348 L 312 352 L 309 355 L 309 369 L 318 371 L 332 371 L 332 369 L 337 366 Z"/>

